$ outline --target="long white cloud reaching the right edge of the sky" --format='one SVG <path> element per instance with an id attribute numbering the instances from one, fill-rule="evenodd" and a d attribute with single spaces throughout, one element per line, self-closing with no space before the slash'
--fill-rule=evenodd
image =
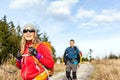
<path id="1" fill-rule="evenodd" d="M 79 9 L 76 14 L 77 21 L 81 21 L 80 27 L 95 27 L 102 24 L 120 21 L 120 11 L 103 9 L 100 13 L 94 10 Z"/>

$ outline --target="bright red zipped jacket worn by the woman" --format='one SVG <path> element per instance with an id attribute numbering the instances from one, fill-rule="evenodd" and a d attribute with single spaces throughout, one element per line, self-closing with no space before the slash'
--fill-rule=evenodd
<path id="1" fill-rule="evenodd" d="M 26 43 L 23 54 L 29 53 L 28 47 L 30 47 L 31 44 L 32 42 Z M 39 44 L 37 47 L 37 52 L 43 56 L 39 60 L 40 63 L 42 63 L 47 68 L 54 67 L 54 60 L 47 46 L 45 46 L 43 43 Z M 21 59 L 21 62 L 16 61 L 16 66 L 21 69 L 21 76 L 23 80 L 32 80 L 38 74 L 44 71 L 43 67 L 40 67 L 35 63 L 32 56 L 24 56 Z"/>

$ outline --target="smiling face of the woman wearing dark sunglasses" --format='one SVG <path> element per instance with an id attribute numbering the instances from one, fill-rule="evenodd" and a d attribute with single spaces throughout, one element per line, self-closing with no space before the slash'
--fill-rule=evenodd
<path id="1" fill-rule="evenodd" d="M 23 33 L 26 41 L 31 41 L 35 37 L 35 30 L 31 29 L 30 27 L 25 28 Z"/>

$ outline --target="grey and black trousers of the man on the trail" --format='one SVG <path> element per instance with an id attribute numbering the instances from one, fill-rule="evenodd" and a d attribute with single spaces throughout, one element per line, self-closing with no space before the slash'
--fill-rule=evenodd
<path id="1" fill-rule="evenodd" d="M 72 71 L 72 77 L 71 77 L 71 71 Z M 71 63 L 66 64 L 66 77 L 68 80 L 77 79 L 76 71 L 77 71 L 77 65 Z"/>

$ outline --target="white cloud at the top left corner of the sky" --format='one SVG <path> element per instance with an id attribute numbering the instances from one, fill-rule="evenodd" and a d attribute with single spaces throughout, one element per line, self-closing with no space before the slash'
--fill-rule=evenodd
<path id="1" fill-rule="evenodd" d="M 42 5 L 46 0 L 12 0 L 9 4 L 11 9 L 26 9 L 36 5 Z"/>

